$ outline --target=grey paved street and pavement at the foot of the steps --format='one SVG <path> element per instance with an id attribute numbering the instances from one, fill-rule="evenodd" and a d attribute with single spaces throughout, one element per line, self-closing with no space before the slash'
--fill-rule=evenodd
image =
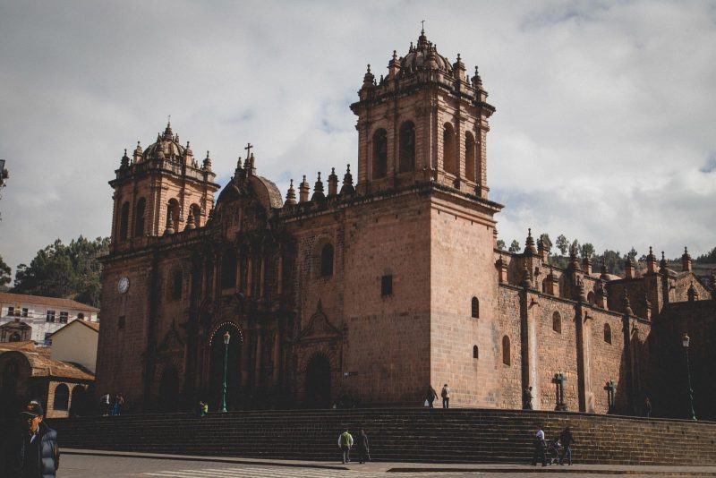
<path id="1" fill-rule="evenodd" d="M 558 476 L 624 478 L 650 476 L 716 476 L 716 466 L 547 466 L 437 465 L 299 462 L 242 458 L 179 457 L 155 454 L 118 454 L 91 450 L 63 450 L 58 478 L 173 476 L 179 478 L 463 478 L 469 476 L 530 478 Z"/>

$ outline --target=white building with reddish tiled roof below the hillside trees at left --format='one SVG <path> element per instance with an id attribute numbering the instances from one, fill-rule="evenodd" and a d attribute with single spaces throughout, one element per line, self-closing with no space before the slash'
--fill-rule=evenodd
<path id="1" fill-rule="evenodd" d="M 0 292 L 0 342 L 33 340 L 50 345 L 50 336 L 72 320 L 98 321 L 99 309 L 71 299 Z"/>

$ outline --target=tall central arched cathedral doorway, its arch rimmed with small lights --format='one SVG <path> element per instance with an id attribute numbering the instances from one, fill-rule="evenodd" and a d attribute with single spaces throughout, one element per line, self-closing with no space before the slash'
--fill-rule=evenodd
<path id="1" fill-rule="evenodd" d="M 224 345 L 224 334 L 229 333 L 228 350 Z M 221 408 L 221 384 L 224 381 L 224 357 L 226 354 L 226 409 L 240 408 L 241 390 L 241 347 L 243 336 L 232 323 L 221 326 L 211 337 L 211 361 L 209 370 L 209 411 L 217 412 Z"/>

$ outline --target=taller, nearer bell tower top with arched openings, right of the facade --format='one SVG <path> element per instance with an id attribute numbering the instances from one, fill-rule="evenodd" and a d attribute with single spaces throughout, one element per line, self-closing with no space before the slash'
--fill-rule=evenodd
<path id="1" fill-rule="evenodd" d="M 359 193 L 435 181 L 487 199 L 486 139 L 495 107 L 475 68 L 450 64 L 421 31 L 417 45 L 393 57 L 388 74 L 363 77 L 358 116 Z"/>

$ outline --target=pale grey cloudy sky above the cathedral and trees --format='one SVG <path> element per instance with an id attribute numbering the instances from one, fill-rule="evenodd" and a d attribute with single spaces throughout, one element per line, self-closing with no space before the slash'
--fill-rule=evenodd
<path id="1" fill-rule="evenodd" d="M 716 246 L 714 2 L 0 0 L 0 255 L 109 235 L 124 148 L 172 117 L 226 184 L 356 166 L 365 65 L 386 73 L 425 20 L 480 66 L 500 237 L 527 227 L 677 257 Z M 202 152 L 204 152 L 202 154 Z"/>

